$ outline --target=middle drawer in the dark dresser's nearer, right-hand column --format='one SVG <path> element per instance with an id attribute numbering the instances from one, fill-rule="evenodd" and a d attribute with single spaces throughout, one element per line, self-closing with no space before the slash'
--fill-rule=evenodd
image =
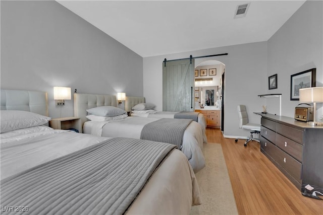
<path id="1" fill-rule="evenodd" d="M 276 146 L 281 148 L 283 151 L 287 152 L 293 158 L 298 161 L 303 161 L 303 145 L 277 133 L 276 134 Z"/>

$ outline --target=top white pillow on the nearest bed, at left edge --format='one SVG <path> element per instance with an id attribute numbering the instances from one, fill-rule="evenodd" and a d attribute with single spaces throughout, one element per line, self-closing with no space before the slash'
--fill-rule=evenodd
<path id="1" fill-rule="evenodd" d="M 43 125 L 51 120 L 50 117 L 22 110 L 1 111 L 1 133 Z"/>

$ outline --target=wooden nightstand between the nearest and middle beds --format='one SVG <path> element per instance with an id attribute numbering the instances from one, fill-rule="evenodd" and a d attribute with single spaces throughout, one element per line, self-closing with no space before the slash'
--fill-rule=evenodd
<path id="1" fill-rule="evenodd" d="M 54 118 L 49 121 L 49 126 L 53 129 L 69 129 L 75 128 L 82 133 L 82 123 L 80 117 L 63 117 Z"/>

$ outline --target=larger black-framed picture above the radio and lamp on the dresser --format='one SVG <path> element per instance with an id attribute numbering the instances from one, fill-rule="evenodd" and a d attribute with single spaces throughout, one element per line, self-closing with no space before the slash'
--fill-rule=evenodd
<path id="1" fill-rule="evenodd" d="M 315 87 L 316 68 L 291 75 L 291 100 L 299 100 L 299 89 Z"/>

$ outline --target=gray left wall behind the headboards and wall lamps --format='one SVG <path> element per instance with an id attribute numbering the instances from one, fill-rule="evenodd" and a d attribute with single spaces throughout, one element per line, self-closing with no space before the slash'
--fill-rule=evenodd
<path id="1" fill-rule="evenodd" d="M 55 106 L 54 86 L 142 96 L 142 70 L 141 56 L 55 1 L 1 1 L 1 88 L 48 92 L 50 117 L 74 115 L 73 99 Z"/>

